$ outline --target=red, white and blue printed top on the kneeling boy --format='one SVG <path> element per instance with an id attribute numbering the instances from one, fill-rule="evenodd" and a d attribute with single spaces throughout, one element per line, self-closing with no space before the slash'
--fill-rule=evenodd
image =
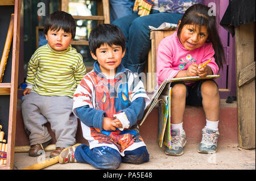
<path id="1" fill-rule="evenodd" d="M 110 78 L 101 73 L 98 62 L 95 62 L 94 69 L 85 75 L 77 87 L 73 100 L 73 112 L 77 117 L 76 108 L 94 111 L 79 117 L 83 136 L 88 140 L 90 149 L 109 146 L 124 156 L 126 150 L 146 146 L 139 134 L 137 119 L 142 118 L 144 107 L 150 99 L 137 74 L 131 73 L 123 65 L 119 65 L 115 77 Z M 102 129 L 103 116 L 114 119 L 114 115 L 121 113 L 129 120 L 129 128 L 123 131 Z"/>

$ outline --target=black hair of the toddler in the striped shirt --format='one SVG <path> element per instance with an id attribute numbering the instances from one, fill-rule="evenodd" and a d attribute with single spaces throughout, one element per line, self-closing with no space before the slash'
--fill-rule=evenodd
<path id="1" fill-rule="evenodd" d="M 72 39 L 76 35 L 76 22 L 71 14 L 64 11 L 55 11 L 46 18 L 44 22 L 44 34 L 47 35 L 48 30 L 59 31 L 63 30 L 65 33 L 71 33 Z"/>

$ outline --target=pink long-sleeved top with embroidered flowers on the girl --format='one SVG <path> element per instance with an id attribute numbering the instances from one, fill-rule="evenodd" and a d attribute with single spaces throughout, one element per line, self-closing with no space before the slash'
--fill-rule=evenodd
<path id="1" fill-rule="evenodd" d="M 218 65 L 213 57 L 214 49 L 212 43 L 205 43 L 202 47 L 187 50 L 177 38 L 177 31 L 170 36 L 165 37 L 158 46 L 157 68 L 158 84 L 167 78 L 174 78 L 180 70 L 187 70 L 189 65 L 207 62 L 212 69 L 213 74 L 218 73 Z"/>

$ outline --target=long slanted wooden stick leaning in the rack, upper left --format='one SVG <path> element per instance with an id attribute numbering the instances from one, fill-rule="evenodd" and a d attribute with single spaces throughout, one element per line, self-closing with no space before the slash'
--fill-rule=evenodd
<path id="1" fill-rule="evenodd" d="M 5 72 L 5 66 L 9 56 L 11 42 L 13 40 L 13 27 L 14 27 L 14 14 L 11 14 L 11 20 L 10 20 L 9 29 L 7 32 L 6 41 L 5 41 L 5 47 L 3 48 L 3 54 L 0 62 L 0 83 L 3 80 L 3 73 Z"/>

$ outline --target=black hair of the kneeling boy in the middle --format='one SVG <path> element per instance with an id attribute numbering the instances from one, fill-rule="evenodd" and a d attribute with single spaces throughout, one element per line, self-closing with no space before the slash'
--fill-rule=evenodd
<path id="1" fill-rule="evenodd" d="M 99 24 L 90 32 L 89 48 L 96 55 L 96 49 L 101 45 L 119 45 L 125 50 L 125 35 L 122 30 L 114 24 Z"/>

